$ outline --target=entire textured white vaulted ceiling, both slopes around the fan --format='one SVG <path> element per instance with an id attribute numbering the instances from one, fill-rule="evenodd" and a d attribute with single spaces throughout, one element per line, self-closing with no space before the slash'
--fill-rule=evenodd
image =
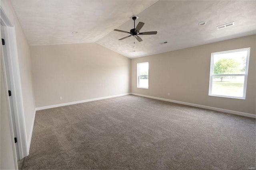
<path id="1" fill-rule="evenodd" d="M 30 45 L 96 42 L 129 58 L 193 47 L 256 33 L 256 1 L 85 1 L 12 0 Z M 119 41 L 133 28 L 132 15 L 145 23 L 140 32 Z M 200 21 L 207 24 L 199 26 Z M 217 30 L 216 26 L 235 25 Z M 72 34 L 77 31 L 77 34 Z M 167 44 L 160 45 L 161 42 Z M 135 50 L 132 53 L 130 51 Z"/>

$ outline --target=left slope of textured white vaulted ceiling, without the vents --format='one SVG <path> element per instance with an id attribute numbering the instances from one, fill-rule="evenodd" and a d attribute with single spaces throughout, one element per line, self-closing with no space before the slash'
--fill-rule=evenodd
<path id="1" fill-rule="evenodd" d="M 12 5 L 28 43 L 49 45 L 95 42 L 156 2 L 12 0 Z"/>

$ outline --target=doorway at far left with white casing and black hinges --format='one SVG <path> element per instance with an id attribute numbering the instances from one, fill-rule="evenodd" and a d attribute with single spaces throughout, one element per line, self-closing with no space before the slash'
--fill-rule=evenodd
<path id="1" fill-rule="evenodd" d="M 8 107 L 6 115 L 8 115 L 9 120 L 14 162 L 15 166 L 17 166 L 18 160 L 28 156 L 20 70 L 14 24 L 10 22 L 2 7 L 0 12 L 1 72 L 3 72 L 1 74 L 1 80 L 3 80 L 3 83 L 1 81 L 1 90 L 4 87 L 4 92 L 6 92 Z"/>

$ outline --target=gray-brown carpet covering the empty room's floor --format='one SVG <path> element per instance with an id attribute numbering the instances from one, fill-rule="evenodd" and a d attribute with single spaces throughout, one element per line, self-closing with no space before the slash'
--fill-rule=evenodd
<path id="1" fill-rule="evenodd" d="M 23 169 L 255 168 L 255 119 L 139 96 L 36 111 Z"/>

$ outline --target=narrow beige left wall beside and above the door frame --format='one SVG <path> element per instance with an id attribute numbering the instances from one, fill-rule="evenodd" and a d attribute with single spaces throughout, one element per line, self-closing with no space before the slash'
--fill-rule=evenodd
<path id="1" fill-rule="evenodd" d="M 24 118 L 26 123 L 26 139 L 27 142 L 29 142 L 32 135 L 31 132 L 33 129 L 33 121 L 35 115 L 35 102 L 30 63 L 30 47 L 22 31 L 14 9 L 12 8 L 11 1 L 1 0 L 1 7 L 6 13 L 6 16 L 8 17 L 12 25 L 15 27 L 18 62 L 20 69 L 20 82 L 22 88 L 22 100 L 24 107 Z"/>

